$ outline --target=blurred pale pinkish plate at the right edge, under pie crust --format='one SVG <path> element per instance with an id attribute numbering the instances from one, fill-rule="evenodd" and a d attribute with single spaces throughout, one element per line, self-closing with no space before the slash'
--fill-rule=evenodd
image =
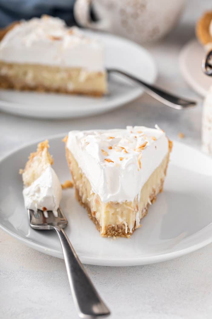
<path id="1" fill-rule="evenodd" d="M 212 78 L 202 72 L 202 59 L 206 52 L 197 40 L 188 42 L 180 53 L 180 68 L 185 81 L 203 97 L 212 85 Z"/>

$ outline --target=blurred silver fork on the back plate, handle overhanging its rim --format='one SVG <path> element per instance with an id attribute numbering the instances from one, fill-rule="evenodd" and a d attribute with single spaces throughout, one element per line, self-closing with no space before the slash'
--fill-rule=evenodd
<path id="1" fill-rule="evenodd" d="M 112 69 L 112 68 L 108 68 L 107 69 L 107 73 L 120 73 L 122 75 L 124 75 L 125 77 L 133 80 L 134 82 L 140 84 L 144 91 L 151 95 L 155 100 L 160 101 L 161 103 L 169 106 L 170 108 L 175 108 L 177 110 L 182 110 L 183 108 L 188 108 L 191 106 L 195 106 L 197 104 L 196 101 L 191 101 L 191 100 L 187 100 L 184 98 L 181 98 L 179 96 L 176 96 L 172 93 L 169 93 L 165 90 L 162 90 L 154 85 L 150 85 L 136 77 L 134 77 L 132 74 L 129 74 L 125 71 L 121 71 L 118 69 Z"/>

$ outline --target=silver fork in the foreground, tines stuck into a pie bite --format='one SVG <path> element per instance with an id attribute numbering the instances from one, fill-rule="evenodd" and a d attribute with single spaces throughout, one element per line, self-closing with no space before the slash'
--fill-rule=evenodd
<path id="1" fill-rule="evenodd" d="M 72 247 L 63 228 L 68 221 L 58 208 L 58 217 L 55 217 L 52 211 L 33 211 L 28 209 L 30 226 L 37 230 L 55 230 L 58 234 L 60 244 L 65 259 L 66 271 L 69 284 L 71 286 L 72 296 L 80 318 L 95 318 L 97 316 L 108 316 L 110 310 L 100 298 L 94 288 L 85 268 L 80 262 L 75 250 Z"/>

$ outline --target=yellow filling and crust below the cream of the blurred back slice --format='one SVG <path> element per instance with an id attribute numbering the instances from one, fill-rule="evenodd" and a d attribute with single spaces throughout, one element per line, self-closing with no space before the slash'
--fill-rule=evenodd
<path id="1" fill-rule="evenodd" d="M 106 73 L 0 61 L 0 87 L 98 96 L 106 93 Z"/>

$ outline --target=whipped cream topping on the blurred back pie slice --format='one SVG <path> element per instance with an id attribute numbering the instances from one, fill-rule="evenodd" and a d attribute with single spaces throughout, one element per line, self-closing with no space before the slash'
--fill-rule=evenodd
<path id="1" fill-rule="evenodd" d="M 59 18 L 21 21 L 0 42 L 0 61 L 102 71 L 103 46 Z"/>

